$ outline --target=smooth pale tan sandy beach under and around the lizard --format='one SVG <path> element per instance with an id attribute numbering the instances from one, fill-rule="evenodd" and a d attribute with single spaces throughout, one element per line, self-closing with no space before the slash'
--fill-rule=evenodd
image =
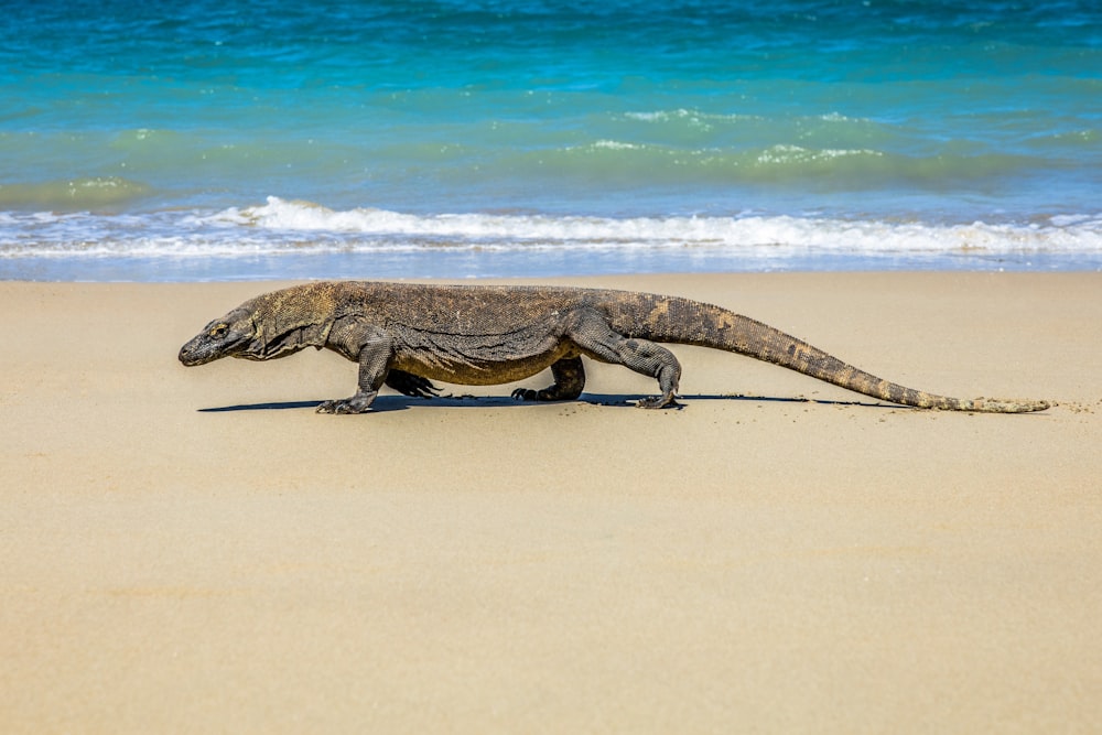
<path id="1" fill-rule="evenodd" d="M 1102 729 L 1102 274 L 560 282 L 1060 406 L 673 347 L 683 410 L 592 366 L 318 415 L 329 352 L 176 361 L 281 284 L 0 282 L 0 731 Z"/>

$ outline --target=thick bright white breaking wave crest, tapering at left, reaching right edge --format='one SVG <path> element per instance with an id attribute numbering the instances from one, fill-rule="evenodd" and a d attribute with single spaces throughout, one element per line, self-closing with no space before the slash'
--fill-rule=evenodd
<path id="1" fill-rule="evenodd" d="M 213 221 L 289 233 L 370 236 L 387 247 L 409 238 L 446 239 L 456 247 L 714 247 L 791 246 L 849 252 L 1102 250 L 1102 215 L 1061 215 L 1026 224 L 929 224 L 822 217 L 579 217 L 550 215 L 413 215 L 385 209 L 333 210 L 269 197 L 228 209 Z M 436 242 L 436 245 L 440 245 Z"/>

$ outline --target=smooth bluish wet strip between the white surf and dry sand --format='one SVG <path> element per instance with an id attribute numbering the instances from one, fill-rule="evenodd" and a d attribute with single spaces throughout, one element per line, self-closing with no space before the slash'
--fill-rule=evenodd
<path id="1" fill-rule="evenodd" d="M 332 252 L 263 257 L 202 258 L 19 258 L 0 260 L 0 283 L 264 283 L 285 280 L 626 279 L 679 275 L 769 273 L 1102 273 L 1102 251 L 1084 252 L 883 252 L 807 253 L 798 247 L 763 256 L 744 253 L 670 255 L 523 251 L 484 258 L 477 250 L 423 252 Z M 10 267 L 18 263 L 18 267 Z M 537 264 L 538 263 L 538 264 Z M 543 271 L 542 275 L 532 275 Z M 235 275 L 227 278 L 226 273 Z"/>

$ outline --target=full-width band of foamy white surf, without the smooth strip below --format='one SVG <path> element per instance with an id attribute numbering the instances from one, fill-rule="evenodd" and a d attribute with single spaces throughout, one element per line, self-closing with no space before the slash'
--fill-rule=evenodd
<path id="1" fill-rule="evenodd" d="M 233 258 L 324 252 L 666 252 L 775 259 L 884 256 L 1102 253 L 1102 214 L 1028 223 L 936 224 L 822 216 L 585 217 L 337 210 L 269 197 L 220 212 L 0 216 L 0 259 Z M 538 270 L 538 269 L 537 269 Z M 538 274 L 538 273 L 536 273 Z"/>

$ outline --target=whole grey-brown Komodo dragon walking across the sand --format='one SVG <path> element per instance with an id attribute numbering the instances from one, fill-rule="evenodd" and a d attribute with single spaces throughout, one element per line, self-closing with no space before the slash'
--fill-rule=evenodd
<path id="1" fill-rule="evenodd" d="M 720 306 L 630 291 L 552 287 L 419 285 L 317 282 L 250 299 L 210 322 L 180 350 L 184 365 L 220 357 L 267 360 L 327 347 L 359 364 L 355 396 L 325 401 L 320 413 L 363 413 L 383 385 L 429 397 L 431 382 L 488 386 L 550 367 L 554 383 L 518 388 L 527 401 L 582 393 L 582 356 L 658 379 L 676 406 L 681 365 L 657 343 L 747 355 L 893 403 L 925 409 L 1020 413 L 1048 401 L 964 400 L 880 380 L 801 339 Z"/>

